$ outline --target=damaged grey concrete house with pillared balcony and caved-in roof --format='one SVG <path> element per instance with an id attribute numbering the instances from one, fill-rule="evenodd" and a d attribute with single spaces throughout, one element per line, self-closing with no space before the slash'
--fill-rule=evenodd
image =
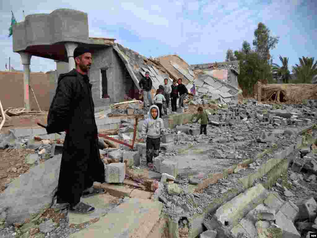
<path id="1" fill-rule="evenodd" d="M 21 55 L 24 67 L 23 101 L 26 109 L 30 110 L 31 57 L 48 58 L 56 62 L 55 85 L 51 88 L 49 96 L 51 102 L 58 76 L 75 68 L 73 52 L 79 45 L 92 50 L 93 64 L 88 76 L 93 85 L 92 94 L 96 108 L 129 98 L 139 99 L 138 84 L 146 71 L 150 72 L 153 82 L 152 94 L 160 84 L 163 84 L 164 78 L 169 79 L 169 84 L 173 79 L 182 78 L 187 88 L 191 89 L 201 74 L 217 81 L 214 85 L 216 87 L 212 89 L 211 85 L 206 84 L 210 89 L 209 96 L 225 94 L 224 98 L 231 97 L 232 95 L 228 94 L 230 89 L 222 87 L 228 84 L 237 89 L 236 75 L 239 66 L 236 62 L 218 63 L 215 69 L 215 66 L 210 64 L 190 66 L 177 55 L 148 59 L 115 43 L 115 39 L 89 37 L 88 33 L 87 13 L 70 9 L 57 9 L 50 14 L 28 15 L 24 22 L 13 27 L 13 52 Z M 204 72 L 196 74 L 195 69 L 203 69 Z M 196 83 L 196 86 L 199 88 L 203 85 Z M 222 90 L 218 90 L 221 87 Z M 202 92 L 204 91 L 205 89 L 202 89 Z M 228 101 L 230 100 L 223 100 Z"/>

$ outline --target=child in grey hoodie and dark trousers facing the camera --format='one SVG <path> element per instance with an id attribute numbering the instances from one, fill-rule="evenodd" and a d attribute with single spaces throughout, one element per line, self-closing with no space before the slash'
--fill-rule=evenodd
<path id="1" fill-rule="evenodd" d="M 140 142 L 146 139 L 146 162 L 148 167 L 153 167 L 153 157 L 159 156 L 161 135 L 165 132 L 162 118 L 159 117 L 159 108 L 152 105 L 149 109 L 149 117 L 142 125 Z"/>

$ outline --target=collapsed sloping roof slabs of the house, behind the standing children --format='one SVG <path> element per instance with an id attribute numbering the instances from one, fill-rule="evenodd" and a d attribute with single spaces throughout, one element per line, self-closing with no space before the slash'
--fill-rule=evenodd
<path id="1" fill-rule="evenodd" d="M 217 79 L 208 72 L 198 72 L 193 70 L 195 67 L 187 64 L 178 55 L 161 56 L 158 58 L 146 58 L 139 53 L 115 43 L 113 49 L 118 53 L 124 62 L 126 69 L 132 77 L 134 83 L 139 87 L 139 81 L 145 76 L 145 72 L 150 72 L 150 78 L 154 89 L 164 83 L 164 79 L 169 79 L 169 84 L 173 79 L 182 78 L 186 88 L 190 90 L 195 83 L 198 95 L 207 95 L 212 99 L 221 102 L 230 102 L 238 89 L 223 80 Z M 197 65 L 195 65 L 197 68 Z M 226 64 L 223 67 L 234 69 L 238 74 L 235 65 Z"/>

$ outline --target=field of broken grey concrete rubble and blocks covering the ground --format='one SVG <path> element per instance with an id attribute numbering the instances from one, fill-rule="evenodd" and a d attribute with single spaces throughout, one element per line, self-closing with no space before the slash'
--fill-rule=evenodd
<path id="1" fill-rule="evenodd" d="M 120 144 L 112 147 L 103 139 L 99 140 L 109 191 L 121 189 L 120 196 L 133 196 L 141 189 L 151 192 L 152 200 L 163 204 L 162 214 L 169 217 L 169 226 L 175 226 L 179 237 L 241 237 L 241 233 L 248 237 L 277 237 L 279 234 L 300 237 L 315 232 L 315 198 L 294 201 L 297 194 L 289 186 L 299 187 L 303 182 L 316 184 L 317 133 L 313 127 L 316 120 L 306 115 L 307 112 L 314 115 L 317 103 L 282 105 L 277 110 L 256 105 L 256 100 L 243 103 L 234 99 L 228 103 L 221 103 L 221 99 L 220 102 L 205 98 L 191 100 L 193 104 L 197 102 L 195 107 L 200 103 L 215 105 L 205 109 L 210 119 L 207 135 L 199 135 L 199 123 L 187 123 L 194 115 L 176 114 L 163 118 L 167 133 L 162 138 L 159 156 L 153 158 L 153 170 L 146 167 L 145 143 L 136 142 L 130 149 Z M 172 120 L 176 123 L 170 126 Z M 118 135 L 113 137 L 131 142 L 134 123 L 134 119 L 120 119 Z M 139 119 L 138 133 L 141 125 L 142 119 Z M 309 126 L 310 130 L 304 130 Z M 60 159 L 64 137 L 59 141 L 44 137 L 38 140 L 34 136 L 20 138 L 11 131 L 1 138 L 2 142 L 10 142 L 4 146 L 6 149 L 22 147 L 35 151 L 25 158 L 34 172 L 21 175 L 0 195 L 2 224 L 8 227 L 16 222 L 23 224 L 30 210 L 38 215 L 54 204 L 56 171 L 59 171 L 59 163 L 55 160 Z M 43 164 L 40 163 L 42 160 Z M 268 164 L 275 160 L 278 163 L 287 161 L 288 170 L 292 171 L 288 182 L 275 175 L 272 181 L 276 182 L 272 182 L 266 175 L 275 166 Z M 11 169 L 17 170 L 16 167 Z M 41 185 L 45 189 L 40 188 L 40 184 L 36 187 L 36 181 L 30 181 L 34 174 L 41 175 L 41 181 L 49 181 L 44 177 L 51 170 L 56 172 L 55 179 L 50 180 L 50 185 Z M 260 173 L 257 171 L 262 171 L 263 175 L 251 179 L 251 174 Z M 32 183 L 29 191 L 41 198 L 25 193 L 21 188 L 22 181 L 30 181 L 26 182 Z M 274 186 L 264 188 L 262 184 L 266 183 Z M 133 186 L 133 189 L 126 186 Z M 14 192 L 9 194 L 12 189 Z M 8 196 L 28 202 L 15 206 L 8 201 Z M 212 205 L 216 201 L 221 202 Z M 54 228 L 54 222 L 46 221 L 39 231 L 50 232 Z"/>

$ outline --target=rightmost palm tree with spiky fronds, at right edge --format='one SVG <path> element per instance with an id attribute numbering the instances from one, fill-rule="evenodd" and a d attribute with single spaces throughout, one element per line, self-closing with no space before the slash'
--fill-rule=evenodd
<path id="1" fill-rule="evenodd" d="M 317 76 L 317 61 L 314 63 L 314 57 L 308 58 L 302 56 L 298 58 L 300 65 L 295 64 L 293 71 L 299 83 L 312 83 L 312 80 Z"/>

